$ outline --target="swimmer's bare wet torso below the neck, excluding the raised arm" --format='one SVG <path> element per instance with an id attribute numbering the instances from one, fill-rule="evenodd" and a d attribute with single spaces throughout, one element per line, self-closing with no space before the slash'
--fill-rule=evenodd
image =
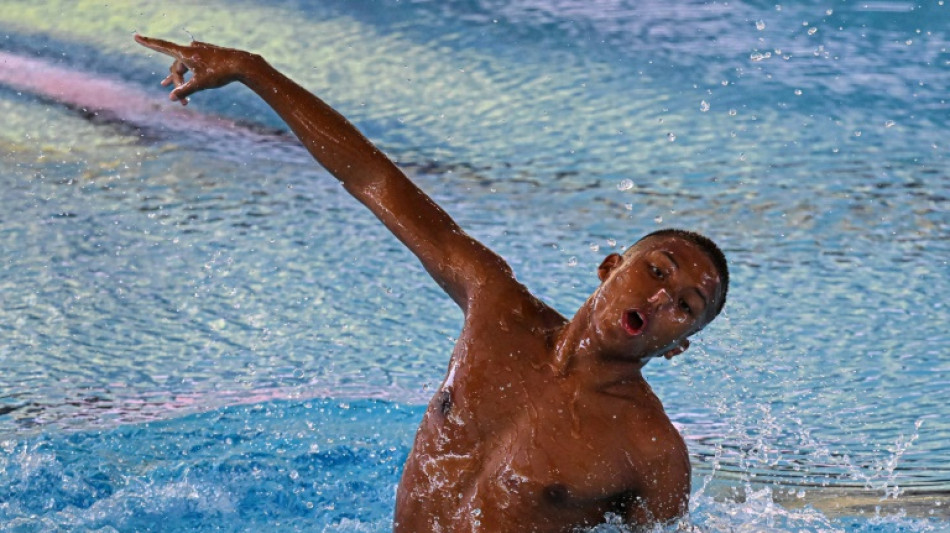
<path id="1" fill-rule="evenodd" d="M 559 372 L 551 332 L 563 317 L 510 296 L 490 306 L 509 312 L 469 314 L 406 462 L 397 532 L 594 525 L 623 514 L 664 455 L 686 454 L 645 382 L 604 391 Z"/>

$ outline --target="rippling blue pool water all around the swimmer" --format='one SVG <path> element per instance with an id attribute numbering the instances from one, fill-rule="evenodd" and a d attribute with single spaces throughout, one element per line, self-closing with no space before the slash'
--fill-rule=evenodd
<path id="1" fill-rule="evenodd" d="M 141 31 L 261 51 L 565 314 L 639 235 L 719 241 L 725 314 L 647 367 L 697 530 L 950 529 L 946 28 L 940 2 L 5 2 L 0 528 L 386 531 L 460 325 L 248 91 L 158 106 Z"/>

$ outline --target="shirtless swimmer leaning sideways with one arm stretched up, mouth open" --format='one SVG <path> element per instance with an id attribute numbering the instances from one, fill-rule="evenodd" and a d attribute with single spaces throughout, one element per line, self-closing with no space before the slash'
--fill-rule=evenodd
<path id="1" fill-rule="evenodd" d="M 174 59 L 170 98 L 241 82 L 389 228 L 462 309 L 445 380 L 406 461 L 400 533 L 560 532 L 683 515 L 686 444 L 641 374 L 722 309 L 728 271 L 707 238 L 664 230 L 597 269 L 573 318 L 524 287 L 342 115 L 258 55 L 136 36 Z M 191 77 L 186 81 L 187 72 Z"/>

